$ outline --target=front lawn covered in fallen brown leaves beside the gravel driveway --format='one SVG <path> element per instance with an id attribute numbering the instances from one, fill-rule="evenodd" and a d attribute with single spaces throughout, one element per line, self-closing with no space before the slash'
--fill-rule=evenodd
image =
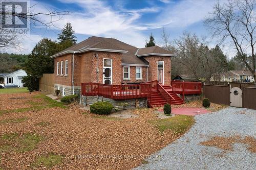
<path id="1" fill-rule="evenodd" d="M 148 108 L 126 119 L 95 115 L 40 92 L 0 97 L 0 169 L 131 169 L 194 124 Z"/>

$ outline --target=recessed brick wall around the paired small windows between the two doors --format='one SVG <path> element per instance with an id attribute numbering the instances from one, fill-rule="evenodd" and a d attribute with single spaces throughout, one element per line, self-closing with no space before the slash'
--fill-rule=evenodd
<path id="1" fill-rule="evenodd" d="M 130 79 L 123 79 L 123 66 L 122 66 L 122 83 L 143 83 L 146 82 L 146 67 L 141 67 L 142 79 L 136 80 L 136 66 L 130 66 Z"/>

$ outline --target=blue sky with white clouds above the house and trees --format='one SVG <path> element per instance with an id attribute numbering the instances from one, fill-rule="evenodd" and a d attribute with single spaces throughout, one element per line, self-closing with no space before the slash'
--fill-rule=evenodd
<path id="1" fill-rule="evenodd" d="M 223 2 L 223 1 L 222 1 Z M 136 47 L 144 47 L 145 40 L 152 33 L 156 44 L 161 46 L 161 31 L 165 28 L 170 34 L 170 41 L 182 36 L 183 32 L 195 33 L 207 37 L 208 45 L 214 47 L 210 32 L 204 25 L 204 19 L 213 10 L 217 1 L 78 1 L 53 0 L 30 1 L 30 10 L 34 12 L 69 11 L 61 18 L 41 17 L 45 22 L 53 19 L 54 27 L 46 29 L 41 25 L 31 24 L 30 35 L 22 41 L 20 51 L 13 53 L 29 54 L 41 38 L 57 41 L 61 28 L 71 22 L 77 42 L 90 36 L 113 37 Z M 231 49 L 231 50 L 230 50 Z M 228 46 L 223 47 L 227 56 L 234 52 Z"/>

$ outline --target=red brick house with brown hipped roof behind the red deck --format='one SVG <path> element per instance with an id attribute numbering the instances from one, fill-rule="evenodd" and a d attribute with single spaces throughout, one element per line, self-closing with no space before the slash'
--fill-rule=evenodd
<path id="1" fill-rule="evenodd" d="M 53 56 L 61 95 L 80 93 L 81 83 L 170 85 L 171 57 L 159 46 L 137 48 L 114 38 L 89 37 Z"/>

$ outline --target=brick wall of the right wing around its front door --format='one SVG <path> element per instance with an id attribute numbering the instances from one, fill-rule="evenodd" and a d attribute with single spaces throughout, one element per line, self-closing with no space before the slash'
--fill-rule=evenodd
<path id="1" fill-rule="evenodd" d="M 171 69 L 171 65 L 170 65 L 170 57 L 160 57 L 160 56 L 148 56 L 148 57 L 144 57 L 145 60 L 147 60 L 150 64 L 150 66 L 148 67 L 148 81 L 153 81 L 153 80 L 157 80 L 157 61 L 164 61 L 164 84 L 165 85 L 170 85 L 170 69 Z"/>

